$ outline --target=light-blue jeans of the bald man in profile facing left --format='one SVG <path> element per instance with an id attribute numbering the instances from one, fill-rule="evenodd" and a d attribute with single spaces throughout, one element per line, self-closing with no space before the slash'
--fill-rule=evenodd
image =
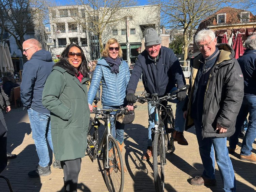
<path id="1" fill-rule="evenodd" d="M 35 141 L 37 154 L 39 157 L 39 165 L 41 167 L 47 167 L 50 162 L 50 157 L 46 137 L 53 152 L 53 146 L 51 141 L 50 114 L 40 113 L 33 110 L 32 108 L 29 108 L 27 112 L 30 120 L 30 127 L 32 130 L 32 138 Z"/>

